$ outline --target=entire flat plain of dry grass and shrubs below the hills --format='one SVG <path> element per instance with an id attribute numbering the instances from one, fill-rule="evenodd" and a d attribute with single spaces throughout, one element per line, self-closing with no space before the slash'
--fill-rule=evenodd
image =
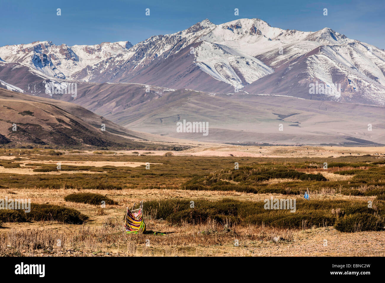
<path id="1" fill-rule="evenodd" d="M 172 154 L 0 148 L 1 198 L 87 216 L 73 224 L 60 220 L 69 212 L 59 218 L 46 210 L 47 217 L 20 221 L 1 210 L 0 255 L 384 256 L 383 153 L 378 147 L 206 146 Z M 74 193 L 116 204 L 65 201 Z M 271 196 L 296 199 L 297 211 L 263 209 Z M 152 234 L 124 234 L 125 209 L 141 200 Z M 190 201 L 191 210 L 184 207 Z M 162 211 L 170 204 L 178 208 Z"/>

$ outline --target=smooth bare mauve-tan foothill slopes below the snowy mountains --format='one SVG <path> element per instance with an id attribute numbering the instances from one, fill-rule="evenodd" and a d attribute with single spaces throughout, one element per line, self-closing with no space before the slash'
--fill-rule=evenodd
<path id="1" fill-rule="evenodd" d="M 49 98 L 45 99 L 46 103 L 62 109 L 66 109 L 65 105 L 81 105 L 119 124 L 120 132 L 131 130 L 131 136 L 142 140 L 189 139 L 229 143 L 240 141 L 246 144 L 348 146 L 385 143 L 382 122 L 385 112 L 381 106 L 285 95 L 198 92 L 134 83 L 77 82 L 77 96 L 72 97 L 71 94 L 46 94 L 44 85 L 47 82 L 59 84 L 65 81 L 42 79 L 37 71 L 20 63 L 0 62 L 0 75 L 12 82 L 7 83 L 9 88 L 15 88 L 13 84 L 20 77 L 28 77 L 33 81 L 33 84 L 28 80 L 23 84 L 27 91 L 18 94 L 21 95 L 20 99 L 39 99 L 36 97 L 39 95 Z M 62 103 L 64 106 L 61 106 Z M 74 112 L 76 109 L 79 111 Z M 67 112 L 95 124 L 95 119 L 87 118 L 85 114 L 88 112 L 81 107 L 72 107 Z M 203 136 L 201 133 L 177 132 L 176 123 L 183 120 L 208 122 L 209 134 Z M 283 131 L 278 129 L 280 124 L 283 125 Z M 368 124 L 373 125 L 373 131 L 368 131 Z"/>

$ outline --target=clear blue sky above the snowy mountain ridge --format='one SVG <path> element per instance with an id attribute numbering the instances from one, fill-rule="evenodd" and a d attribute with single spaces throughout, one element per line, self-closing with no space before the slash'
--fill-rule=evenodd
<path id="1" fill-rule="evenodd" d="M 61 8 L 62 15 L 56 15 Z M 150 16 L 145 9 L 150 8 Z M 239 9 L 239 16 L 234 15 Z M 323 15 L 323 9 L 328 15 Z M 332 28 L 385 49 L 385 1 L 305 0 L 1 0 L 0 46 L 51 40 L 99 44 L 174 33 L 205 18 L 215 24 L 260 18 L 273 27 L 316 31 Z"/>

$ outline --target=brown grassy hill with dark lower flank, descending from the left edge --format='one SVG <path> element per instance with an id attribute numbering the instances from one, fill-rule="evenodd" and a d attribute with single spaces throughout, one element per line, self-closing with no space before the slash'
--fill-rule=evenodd
<path id="1" fill-rule="evenodd" d="M 0 89 L 0 144 L 181 149 L 149 143 L 148 137 L 69 102 Z"/>

